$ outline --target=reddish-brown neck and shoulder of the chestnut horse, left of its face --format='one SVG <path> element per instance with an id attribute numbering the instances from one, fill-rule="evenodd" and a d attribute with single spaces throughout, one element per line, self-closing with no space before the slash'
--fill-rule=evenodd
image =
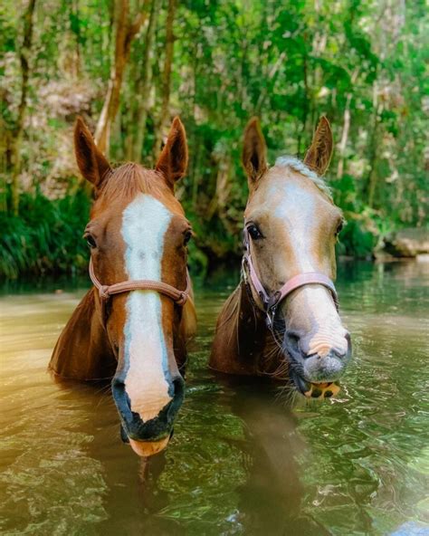
<path id="1" fill-rule="evenodd" d="M 117 361 L 95 307 L 95 291 L 83 296 L 62 330 L 48 369 L 61 378 L 111 378 Z"/>

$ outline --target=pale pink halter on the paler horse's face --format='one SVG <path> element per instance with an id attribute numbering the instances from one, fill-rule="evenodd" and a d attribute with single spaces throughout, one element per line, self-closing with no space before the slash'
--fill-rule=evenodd
<path id="1" fill-rule="evenodd" d="M 324 286 L 329 290 L 334 300 L 335 307 L 338 311 L 338 294 L 335 289 L 334 283 L 329 279 L 328 276 L 319 272 L 306 272 L 298 273 L 294 275 L 291 279 L 284 283 L 284 285 L 276 292 L 273 292 L 271 295 L 266 292 L 264 289 L 261 280 L 259 279 L 252 261 L 252 255 L 250 252 L 250 239 L 249 232 L 246 227 L 243 230 L 244 235 L 244 254 L 243 254 L 243 278 L 244 282 L 248 283 L 248 276 L 250 281 L 253 284 L 253 289 L 256 291 L 262 302 L 262 309 L 266 316 L 266 323 L 269 330 L 274 329 L 274 317 L 275 312 L 279 304 L 287 297 L 291 292 L 299 289 L 300 287 L 306 286 L 308 284 L 319 284 Z"/>

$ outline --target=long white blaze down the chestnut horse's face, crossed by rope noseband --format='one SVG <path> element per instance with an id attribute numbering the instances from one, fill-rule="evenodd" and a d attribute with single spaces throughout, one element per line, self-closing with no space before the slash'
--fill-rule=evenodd
<path id="1" fill-rule="evenodd" d="M 140 194 L 124 210 L 121 233 L 129 279 L 161 281 L 164 236 L 171 218 L 171 212 L 147 194 Z M 171 400 L 161 299 L 157 292 L 129 292 L 126 309 L 125 389 L 131 410 L 146 422 Z"/>

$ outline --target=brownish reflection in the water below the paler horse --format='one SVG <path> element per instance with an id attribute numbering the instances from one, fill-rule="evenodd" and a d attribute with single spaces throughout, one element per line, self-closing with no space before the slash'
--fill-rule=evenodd
<path id="1" fill-rule="evenodd" d="M 297 456 L 306 445 L 297 434 L 297 418 L 291 409 L 275 401 L 272 386 L 261 381 L 224 379 L 234 390 L 228 404 L 243 420 L 246 475 L 238 486 L 237 514 L 245 534 L 329 534 L 300 512 L 304 487 Z"/>

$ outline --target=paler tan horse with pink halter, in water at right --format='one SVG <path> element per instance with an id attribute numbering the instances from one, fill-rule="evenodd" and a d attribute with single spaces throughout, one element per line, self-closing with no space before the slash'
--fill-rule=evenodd
<path id="1" fill-rule="evenodd" d="M 212 369 L 291 378 L 307 397 L 338 392 L 351 347 L 332 282 L 343 217 L 321 178 L 331 153 L 322 118 L 304 161 L 281 157 L 269 168 L 258 120 L 247 125 L 242 280 L 219 315 Z"/>

